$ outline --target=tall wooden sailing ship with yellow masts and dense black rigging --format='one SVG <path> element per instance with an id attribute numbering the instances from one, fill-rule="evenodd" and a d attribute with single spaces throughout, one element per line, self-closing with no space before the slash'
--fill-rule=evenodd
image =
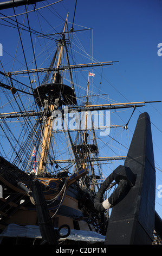
<path id="1" fill-rule="evenodd" d="M 138 176 L 132 174 L 133 167 L 128 164 L 129 148 L 119 140 L 119 134 L 125 131 L 125 139 L 134 111 L 146 108 L 148 102 L 112 102 L 107 94 L 99 94 L 93 87 L 95 68 L 103 71 L 107 66 L 118 65 L 118 60 L 99 62 L 90 57 L 77 37 L 90 29 L 76 28 L 74 20 L 69 23 L 69 13 L 60 32 L 33 28 L 30 15 L 33 17 L 42 11 L 36 2 L 41 1 L 15 0 L 0 4 L 0 9 L 13 8 L 14 15 L 3 15 L 3 18 L 9 23 L 9 31 L 17 29 L 18 36 L 13 65 L 5 70 L 1 62 L 0 71 L 2 243 L 17 230 L 12 237 L 16 241 L 21 230 L 26 229 L 29 241 L 41 243 L 44 233 L 39 227 L 45 222 L 41 223 L 40 208 L 44 202 L 47 206 L 44 216 L 50 216 L 49 222 L 47 220 L 50 227 L 65 234 L 68 230 L 71 234 L 56 236 L 55 243 L 102 244 L 113 206 L 122 202 L 120 197 L 130 186 L 135 186 Z M 20 19 L 19 5 L 24 5 L 25 10 Z M 53 10 L 53 6 L 44 5 L 43 9 Z M 18 66 L 16 70 L 15 66 Z M 128 112 L 127 123 L 113 124 L 110 120 L 119 109 Z M 125 148 L 125 154 L 116 153 L 116 145 Z M 104 152 L 107 147 L 109 155 Z M 116 167 L 109 168 L 107 163 L 112 161 Z M 125 170 L 122 176 L 126 178 L 119 178 L 119 172 L 123 173 L 121 166 Z M 127 176 L 128 169 L 131 171 Z M 114 178 L 116 176 L 118 178 Z M 124 180 L 122 184 L 121 180 Z M 101 191 L 105 182 L 106 187 Z M 23 234 L 19 236 L 20 243 L 22 238 Z"/>

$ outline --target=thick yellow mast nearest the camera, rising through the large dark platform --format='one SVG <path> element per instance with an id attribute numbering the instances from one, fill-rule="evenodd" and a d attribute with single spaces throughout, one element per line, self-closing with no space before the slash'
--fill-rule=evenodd
<path id="1" fill-rule="evenodd" d="M 67 19 L 68 19 L 68 14 L 67 14 Z M 63 32 L 66 29 L 67 19 L 64 24 Z M 57 61 L 57 68 L 61 64 L 62 52 L 63 52 L 63 44 L 61 44 L 61 47 L 60 47 L 59 58 Z M 56 81 L 56 74 L 54 75 L 53 83 L 55 83 L 55 81 Z M 53 112 L 54 109 L 55 109 L 54 105 L 49 106 L 49 111 Z M 52 131 L 52 123 L 53 123 L 53 120 L 50 117 L 48 117 L 46 120 L 46 124 L 44 126 L 44 130 L 43 130 L 42 152 L 41 152 L 41 159 L 40 159 L 40 166 L 39 166 L 39 169 L 41 170 L 41 172 L 44 172 L 45 164 L 47 161 L 47 155 L 48 155 L 48 150 L 49 150 L 50 141 L 51 141 L 51 134 L 52 134 L 52 132 L 51 132 Z"/>

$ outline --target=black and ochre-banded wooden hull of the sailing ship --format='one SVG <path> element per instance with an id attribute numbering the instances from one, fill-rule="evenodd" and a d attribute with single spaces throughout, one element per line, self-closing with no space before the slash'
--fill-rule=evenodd
<path id="1" fill-rule="evenodd" d="M 23 172 L 12 168 L 15 167 L 1 159 L 0 185 L 3 187 L 3 197 L 0 198 L 1 231 L 10 223 L 38 225 L 34 199 L 18 187 L 16 182 L 19 181 L 25 184 L 24 181 L 26 180 L 27 184 L 25 185 L 30 188 L 31 180 L 33 179 L 39 179 L 41 185 L 43 185 L 43 194 L 47 201 L 54 227 L 59 228 L 61 225 L 68 224 L 70 229 L 99 231 L 96 221 L 93 222 L 93 202 L 87 197 L 87 194 L 81 191 L 78 184 L 70 185 L 66 190 L 63 189 L 62 185 L 65 179 L 33 178 L 25 173 L 23 176 Z M 14 178 L 12 172 L 16 172 L 16 175 L 14 173 Z M 12 182 L 10 182 L 10 175 L 12 176 Z M 23 178 L 21 178 L 22 176 Z M 45 186 L 47 184 L 49 185 L 47 186 L 48 188 Z M 89 209 L 86 208 L 83 200 L 89 206 Z M 90 217 L 92 218 L 90 219 Z"/>

